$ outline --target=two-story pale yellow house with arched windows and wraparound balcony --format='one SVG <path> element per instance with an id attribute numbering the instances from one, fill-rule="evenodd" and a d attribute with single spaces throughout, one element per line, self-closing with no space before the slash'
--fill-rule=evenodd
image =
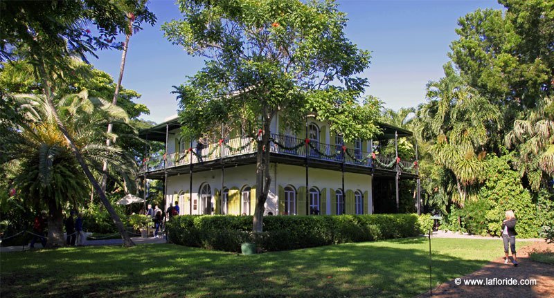
<path id="1" fill-rule="evenodd" d="M 180 127 L 175 116 L 140 133 L 145 140 L 166 144 L 166 153 L 145 160 L 141 173 L 165 180 L 166 208 L 177 201 L 180 214 L 253 214 L 255 140 L 235 135 L 202 144 L 181 138 Z M 380 127 L 381 140 L 395 144 L 397 138 L 412 136 L 405 129 Z M 295 134 L 276 116 L 271 133 L 272 180 L 265 214 L 391 212 L 384 206 L 398 205 L 398 180 L 418 178 L 417 161 L 379 154 L 373 140 L 344 143 L 314 118 L 307 118 L 306 128 Z"/>

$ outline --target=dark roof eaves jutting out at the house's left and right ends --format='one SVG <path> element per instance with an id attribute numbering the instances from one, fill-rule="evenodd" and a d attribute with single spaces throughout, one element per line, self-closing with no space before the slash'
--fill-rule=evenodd
<path id="1" fill-rule="evenodd" d="M 168 126 L 166 128 L 166 125 Z M 381 127 L 383 134 L 378 137 L 378 139 L 392 140 L 394 139 L 395 131 L 398 134 L 398 138 L 410 137 L 413 136 L 413 133 L 407 129 L 402 129 L 400 127 L 395 127 L 391 124 L 386 124 L 379 122 L 379 127 Z M 159 142 L 166 142 L 166 129 L 172 131 L 173 129 L 178 129 L 182 125 L 179 124 L 179 118 L 171 118 L 167 121 L 161 122 L 150 129 L 141 129 L 139 131 L 139 138 L 143 140 L 153 140 Z M 171 134 L 171 133 L 170 133 Z"/>

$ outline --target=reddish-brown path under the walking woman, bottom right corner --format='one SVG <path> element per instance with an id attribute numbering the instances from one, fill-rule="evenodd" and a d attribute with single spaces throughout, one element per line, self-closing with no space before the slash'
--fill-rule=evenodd
<path id="1" fill-rule="evenodd" d="M 519 266 L 514 267 L 510 262 L 504 263 L 504 258 L 496 259 L 486 266 L 460 277 L 461 284 L 456 285 L 456 279 L 447 281 L 437 288 L 433 289 L 433 297 L 439 298 L 458 298 L 458 297 L 554 297 L 554 265 L 538 263 L 531 261 L 529 253 L 533 251 L 554 250 L 554 244 L 546 244 L 546 242 L 536 242 L 521 248 L 517 252 L 517 261 Z M 511 258 L 510 258 L 511 259 Z M 496 281 L 494 279 L 496 278 Z M 536 280 L 536 285 L 510 285 L 513 281 L 520 283 L 521 280 L 530 281 Z M 465 281 L 479 281 L 483 285 L 469 285 Z M 458 280 L 459 282 L 460 280 Z M 485 283 L 504 283 L 501 285 L 485 284 Z M 429 297 L 429 292 L 419 295 L 418 297 Z"/>

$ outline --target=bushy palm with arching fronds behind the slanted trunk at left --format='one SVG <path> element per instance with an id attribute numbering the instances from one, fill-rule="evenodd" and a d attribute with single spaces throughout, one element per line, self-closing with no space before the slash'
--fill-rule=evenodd
<path id="1" fill-rule="evenodd" d="M 29 203 L 48 207 L 48 246 L 62 246 L 62 209 L 67 203 L 78 205 L 86 197 L 87 177 L 60 131 L 46 96 L 14 95 L 13 98 L 24 120 L 2 138 L 7 156 L 3 161 L 20 162 L 15 178 L 19 193 Z M 87 91 L 61 98 L 55 95 L 55 99 L 58 120 L 84 164 L 101 171 L 102 161 L 109 160 L 111 173 L 117 173 L 126 185 L 132 185 L 133 158 L 118 147 L 103 145 L 107 134 L 100 129 L 107 122 L 125 122 L 125 111 L 105 100 L 89 97 Z"/>

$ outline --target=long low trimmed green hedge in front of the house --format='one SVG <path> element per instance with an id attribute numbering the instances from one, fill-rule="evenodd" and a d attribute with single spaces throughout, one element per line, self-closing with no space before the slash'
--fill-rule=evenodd
<path id="1" fill-rule="evenodd" d="M 176 244 L 240 252 L 254 242 L 258 250 L 312 248 L 335 243 L 404 238 L 420 234 L 415 214 L 265 216 L 264 232 L 252 234 L 252 216 L 174 216 L 166 230 Z"/>

